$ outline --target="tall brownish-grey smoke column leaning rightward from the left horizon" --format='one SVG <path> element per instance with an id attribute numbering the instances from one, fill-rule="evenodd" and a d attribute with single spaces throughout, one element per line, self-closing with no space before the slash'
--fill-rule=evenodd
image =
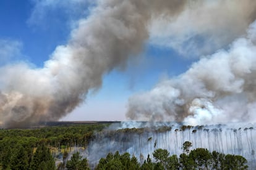
<path id="1" fill-rule="evenodd" d="M 72 111 L 105 73 L 124 67 L 148 38 L 147 23 L 159 12 L 175 15 L 186 1 L 98 1 L 72 31 L 69 43 L 56 47 L 43 68 L 25 63 L 0 70 L 0 119 L 5 127 L 56 120 Z"/>

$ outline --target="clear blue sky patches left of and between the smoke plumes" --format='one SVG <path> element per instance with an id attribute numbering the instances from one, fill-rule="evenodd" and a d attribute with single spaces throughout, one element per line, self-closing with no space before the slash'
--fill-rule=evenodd
<path id="1" fill-rule="evenodd" d="M 87 17 L 94 4 L 74 1 L 0 1 L 0 65 L 27 62 L 43 67 L 56 46 L 66 44 L 76 20 Z M 74 9 L 72 9 L 74 8 Z M 126 120 L 127 100 L 135 92 L 150 89 L 166 76 L 176 76 L 194 59 L 173 49 L 145 43 L 139 59 L 104 75 L 100 89 L 63 121 Z"/>

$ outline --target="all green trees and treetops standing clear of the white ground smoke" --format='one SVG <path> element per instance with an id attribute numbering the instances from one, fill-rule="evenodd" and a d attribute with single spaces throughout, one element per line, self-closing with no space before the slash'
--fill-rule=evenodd
<path id="1" fill-rule="evenodd" d="M 109 124 L 75 124 L 50 126 L 35 129 L 0 129 L 0 169 L 90 169 L 87 158 L 74 152 L 67 156 L 72 147 L 87 148 L 95 137 Z M 187 128 L 187 127 L 186 127 Z M 171 127 L 161 127 L 155 131 L 169 131 Z M 184 129 L 181 127 L 180 130 Z M 141 133 L 149 129 L 120 129 L 119 133 Z M 111 133 L 108 132 L 111 136 Z M 192 144 L 183 144 L 184 152 L 170 155 L 167 150 L 158 148 L 148 158 L 139 163 L 129 153 L 108 153 L 101 158 L 95 169 L 247 169 L 247 160 L 239 155 L 224 155 L 209 152 L 205 148 L 190 150 Z M 62 160 L 56 162 L 58 155 Z M 97 153 L 95 153 L 97 154 Z"/>

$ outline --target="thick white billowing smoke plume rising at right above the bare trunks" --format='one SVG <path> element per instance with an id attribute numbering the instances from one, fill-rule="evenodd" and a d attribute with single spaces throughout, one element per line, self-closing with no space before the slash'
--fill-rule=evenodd
<path id="1" fill-rule="evenodd" d="M 255 87 L 256 22 L 249 26 L 247 36 L 236 39 L 228 50 L 206 56 L 186 73 L 130 97 L 127 116 L 193 125 L 254 122 Z"/>

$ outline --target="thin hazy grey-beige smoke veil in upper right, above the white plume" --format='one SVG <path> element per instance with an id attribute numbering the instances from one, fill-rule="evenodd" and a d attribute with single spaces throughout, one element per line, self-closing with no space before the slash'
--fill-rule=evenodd
<path id="1" fill-rule="evenodd" d="M 153 20 L 150 42 L 185 57 L 212 54 L 245 34 L 254 20 L 253 1 L 190 1 L 177 18 L 160 15 Z"/>

